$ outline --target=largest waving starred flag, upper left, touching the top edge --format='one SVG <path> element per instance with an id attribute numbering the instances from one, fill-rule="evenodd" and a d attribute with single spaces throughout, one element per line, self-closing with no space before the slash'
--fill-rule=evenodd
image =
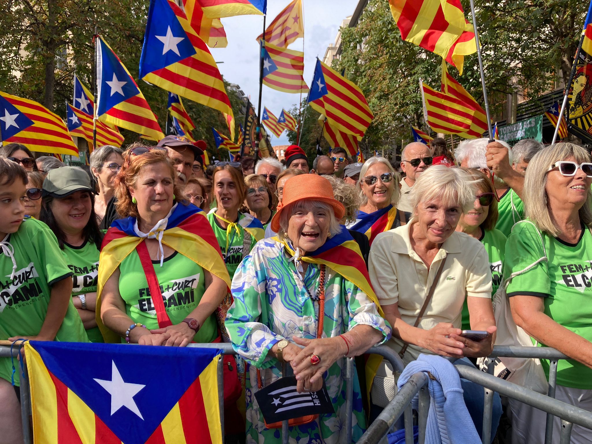
<path id="1" fill-rule="evenodd" d="M 140 78 L 224 113 L 234 127 L 234 114 L 214 57 L 172 0 L 150 0 Z"/>

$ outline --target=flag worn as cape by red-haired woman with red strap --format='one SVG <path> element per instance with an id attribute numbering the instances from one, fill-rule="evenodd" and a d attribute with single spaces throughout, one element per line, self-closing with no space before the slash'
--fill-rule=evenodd
<path id="1" fill-rule="evenodd" d="M 135 217 L 115 220 L 103 238 L 96 291 L 96 323 L 105 342 L 121 342 L 121 337 L 102 323 L 101 293 L 105 282 L 121 262 L 144 240 L 134 230 L 135 223 Z M 164 227 L 162 243 L 223 279 L 230 288 L 230 276 L 222 259 L 218 240 L 205 213 L 199 208 L 194 205 L 175 204 Z"/>

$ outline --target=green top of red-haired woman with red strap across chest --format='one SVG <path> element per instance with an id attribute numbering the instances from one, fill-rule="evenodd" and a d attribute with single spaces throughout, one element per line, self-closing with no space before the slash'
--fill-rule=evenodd
<path id="1" fill-rule="evenodd" d="M 204 271 L 191 259 L 175 252 L 165 259 L 152 261 L 166 313 L 173 325 L 181 323 L 200 304 L 205 292 Z M 146 274 L 140 256 L 134 250 L 119 266 L 119 292 L 126 302 L 126 313 L 134 323 L 157 329 L 156 308 L 150 297 Z M 195 334 L 195 342 L 212 342 L 218 336 L 215 314 L 208 317 Z M 124 340 L 122 339 L 122 342 Z"/>

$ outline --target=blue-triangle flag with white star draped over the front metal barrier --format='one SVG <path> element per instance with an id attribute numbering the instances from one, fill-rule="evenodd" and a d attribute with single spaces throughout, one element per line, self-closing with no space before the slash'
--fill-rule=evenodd
<path id="1" fill-rule="evenodd" d="M 219 349 L 25 343 L 36 443 L 221 443 Z"/>

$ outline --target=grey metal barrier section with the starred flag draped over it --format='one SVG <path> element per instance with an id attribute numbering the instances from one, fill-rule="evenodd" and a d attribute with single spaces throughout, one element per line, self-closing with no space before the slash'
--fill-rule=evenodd
<path id="1" fill-rule="evenodd" d="M 234 352 L 232 345 L 229 343 L 204 343 L 204 344 L 189 344 L 188 347 L 195 347 L 195 348 L 213 348 L 213 349 L 221 349 L 223 355 L 236 355 L 237 353 Z M 375 355 L 381 355 L 388 362 L 391 363 L 394 372 L 402 372 L 404 369 L 404 364 L 401 358 L 395 353 L 391 348 L 386 345 L 379 345 L 376 347 L 372 347 L 368 350 L 368 353 L 372 353 Z M 18 347 L 15 346 L 12 350 L 8 346 L 0 346 L 0 358 L 9 358 L 10 356 L 18 355 Z M 346 359 L 346 370 L 345 370 L 345 383 L 346 383 L 346 412 L 348 414 L 346 418 L 346 443 L 352 442 L 352 414 L 353 414 L 353 358 L 342 358 Z M 15 362 L 16 366 L 16 362 Z M 20 365 L 17 368 L 17 371 L 20 370 Z M 223 367 L 223 360 L 220 359 L 218 361 L 217 366 L 217 377 L 218 377 L 218 404 L 220 406 L 220 427 L 222 429 L 222 442 L 224 442 L 224 367 Z M 29 390 L 29 381 L 28 381 L 28 373 L 27 373 L 27 363 L 24 363 L 24 374 L 25 377 L 20 378 L 21 383 L 21 420 L 22 420 L 22 436 L 24 439 L 24 444 L 33 444 L 33 437 L 31 437 L 31 428 L 29 417 L 31 415 L 31 397 L 30 397 L 30 390 Z M 282 374 L 289 375 L 291 374 L 291 368 L 289 365 L 284 365 L 284 369 L 282 369 Z M 413 422 L 413 412 L 411 411 L 411 407 L 409 407 L 405 411 L 405 423 L 412 424 Z M 288 428 L 288 421 L 282 422 L 282 444 L 288 444 L 289 442 L 289 428 Z"/>

